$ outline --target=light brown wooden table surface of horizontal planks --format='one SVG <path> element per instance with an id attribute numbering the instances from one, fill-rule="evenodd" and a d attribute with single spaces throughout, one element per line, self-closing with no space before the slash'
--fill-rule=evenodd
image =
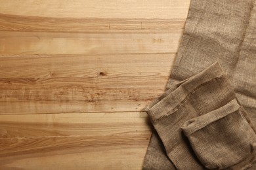
<path id="1" fill-rule="evenodd" d="M 0 1 L 0 169 L 141 169 L 190 0 Z"/>

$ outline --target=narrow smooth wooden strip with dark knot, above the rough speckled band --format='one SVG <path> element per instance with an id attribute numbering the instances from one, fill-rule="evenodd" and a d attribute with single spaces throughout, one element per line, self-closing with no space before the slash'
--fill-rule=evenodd
<path id="1" fill-rule="evenodd" d="M 0 78 L 169 75 L 176 54 L 1 55 Z M 11 66 L 11 67 L 10 67 Z"/>

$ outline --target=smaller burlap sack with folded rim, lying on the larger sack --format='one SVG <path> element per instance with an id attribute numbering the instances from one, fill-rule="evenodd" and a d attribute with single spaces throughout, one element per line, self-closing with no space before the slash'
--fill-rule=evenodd
<path id="1" fill-rule="evenodd" d="M 208 169 L 226 169 L 255 156 L 256 135 L 236 99 L 184 123 L 197 158 Z M 240 167 L 251 167 L 255 160 Z"/>

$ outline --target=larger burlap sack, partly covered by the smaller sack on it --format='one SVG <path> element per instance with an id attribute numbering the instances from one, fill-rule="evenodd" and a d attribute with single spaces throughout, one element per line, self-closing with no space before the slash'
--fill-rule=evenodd
<path id="1" fill-rule="evenodd" d="M 208 116 L 209 112 L 211 113 L 213 110 L 224 108 L 223 106 L 232 101 L 232 99 L 236 99 L 234 89 L 230 86 L 219 64 L 213 63 L 213 65 L 210 65 L 207 69 L 197 75 L 182 81 L 175 90 L 167 90 L 163 95 L 158 97 L 158 99 L 148 105 L 146 112 L 150 116 L 150 120 L 163 142 L 167 156 L 177 169 L 205 169 L 205 164 L 202 164 L 204 162 L 201 158 L 198 160 L 188 139 L 186 139 L 182 133 L 181 127 L 184 123 L 193 118 L 201 118 L 201 115 L 203 114 Z M 213 114 L 210 115 L 213 116 L 211 118 L 213 120 L 215 116 Z M 247 119 L 245 119 L 245 122 L 251 128 Z M 230 126 L 228 126 L 228 128 L 229 127 Z M 189 131 L 186 128 L 185 130 Z M 246 131 L 247 129 L 243 130 Z M 238 135 L 244 135 L 241 134 L 240 131 L 237 132 L 239 133 Z M 230 131 L 230 133 L 226 131 L 226 134 L 228 135 L 233 135 L 232 133 L 232 131 Z M 251 136 L 251 141 L 255 141 L 256 137 L 252 128 L 251 134 L 253 134 Z M 190 136 L 188 135 L 188 137 Z M 225 140 L 231 140 L 230 142 L 232 142 L 232 138 Z M 207 143 L 205 147 L 214 150 L 216 146 L 215 142 L 216 141 Z M 228 148 L 227 146 L 226 150 L 230 150 L 231 153 L 232 146 L 230 145 L 230 147 L 231 148 Z M 246 156 L 250 154 L 248 150 L 243 151 L 246 151 Z M 217 163 L 215 162 L 215 159 L 222 158 L 215 158 L 213 156 L 211 163 Z M 242 159 L 234 159 L 233 161 L 235 161 L 235 163 L 240 163 L 241 160 Z M 158 160 L 158 163 L 159 162 L 161 162 L 161 160 Z M 235 163 L 231 162 L 231 165 L 234 165 Z M 223 165 L 223 167 L 226 168 L 231 165 Z M 249 164 L 246 166 L 249 166 Z M 144 169 L 146 169 L 145 166 Z"/>

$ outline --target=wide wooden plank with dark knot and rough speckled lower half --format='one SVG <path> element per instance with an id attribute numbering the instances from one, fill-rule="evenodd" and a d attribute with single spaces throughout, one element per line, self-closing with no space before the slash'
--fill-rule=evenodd
<path id="1" fill-rule="evenodd" d="M 163 93 L 174 59 L 175 54 L 1 56 L 0 114 L 142 110 Z"/>

